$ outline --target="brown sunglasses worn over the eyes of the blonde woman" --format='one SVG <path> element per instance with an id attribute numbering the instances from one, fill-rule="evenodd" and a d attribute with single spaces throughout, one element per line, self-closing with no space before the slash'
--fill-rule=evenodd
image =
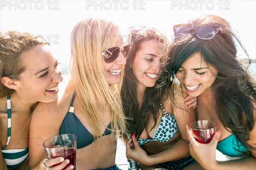
<path id="1" fill-rule="evenodd" d="M 112 63 L 116 60 L 116 58 L 118 58 L 120 51 L 122 52 L 124 58 L 127 59 L 130 54 L 130 45 L 107 48 L 105 52 L 102 52 L 102 55 L 104 55 L 104 61 L 106 63 Z"/>

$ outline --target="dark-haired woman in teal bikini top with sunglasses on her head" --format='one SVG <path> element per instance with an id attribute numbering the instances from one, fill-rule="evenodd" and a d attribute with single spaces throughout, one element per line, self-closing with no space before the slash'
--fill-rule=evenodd
<path id="1" fill-rule="evenodd" d="M 191 155 L 204 169 L 255 169 L 255 80 L 237 60 L 234 41 L 241 45 L 239 39 L 230 24 L 216 15 L 176 25 L 174 33 L 167 70 L 197 97 L 197 119 L 217 122 L 211 144 L 196 143 L 186 126 Z M 227 161 L 216 161 L 216 148 Z"/>

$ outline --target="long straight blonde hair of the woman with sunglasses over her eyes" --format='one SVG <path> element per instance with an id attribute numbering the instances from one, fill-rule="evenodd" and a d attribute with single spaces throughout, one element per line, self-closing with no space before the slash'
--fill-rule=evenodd
<path id="1" fill-rule="evenodd" d="M 72 80 L 79 105 L 87 118 L 93 135 L 102 136 L 103 120 L 96 103 L 111 114 L 111 130 L 120 135 L 125 132 L 125 116 L 120 98 L 122 81 L 109 85 L 104 78 L 102 52 L 115 46 L 119 27 L 103 19 L 86 19 L 76 24 L 71 34 Z M 70 62 L 71 66 L 71 62 Z"/>

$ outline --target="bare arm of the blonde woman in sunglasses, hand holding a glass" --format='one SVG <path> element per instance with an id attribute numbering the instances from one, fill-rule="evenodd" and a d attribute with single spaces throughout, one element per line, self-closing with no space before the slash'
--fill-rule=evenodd
<path id="1" fill-rule="evenodd" d="M 61 112 L 57 102 L 39 103 L 32 114 L 29 130 L 29 168 L 31 170 L 44 169 L 42 162 L 46 157 L 43 142 L 58 135 L 61 124 Z M 62 169 L 67 165 L 63 157 L 45 161 L 46 166 L 58 164 Z"/>

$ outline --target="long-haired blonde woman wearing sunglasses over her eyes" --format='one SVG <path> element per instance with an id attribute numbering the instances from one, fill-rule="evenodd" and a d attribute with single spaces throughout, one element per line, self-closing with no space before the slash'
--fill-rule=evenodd
<path id="1" fill-rule="evenodd" d="M 45 141 L 64 133 L 77 136 L 77 170 L 119 169 L 115 164 L 116 134 L 125 132 L 125 116 L 117 84 L 130 49 L 124 42 L 127 38 L 110 21 L 89 18 L 77 23 L 71 34 L 71 79 L 64 95 L 33 113 L 31 138 Z M 30 168 L 57 169 L 59 165 L 51 166 L 64 161 L 44 160 L 43 146 L 31 141 Z"/>

